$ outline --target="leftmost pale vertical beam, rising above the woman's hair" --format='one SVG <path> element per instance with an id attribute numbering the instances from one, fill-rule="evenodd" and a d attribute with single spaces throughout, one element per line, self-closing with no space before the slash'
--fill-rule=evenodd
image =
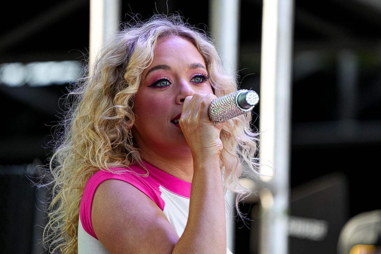
<path id="1" fill-rule="evenodd" d="M 90 0 L 90 66 L 104 43 L 118 31 L 121 16 L 120 0 Z"/>

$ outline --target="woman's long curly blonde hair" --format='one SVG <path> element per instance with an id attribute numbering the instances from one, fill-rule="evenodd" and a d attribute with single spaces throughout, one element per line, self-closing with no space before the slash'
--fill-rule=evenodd
<path id="1" fill-rule="evenodd" d="M 52 195 L 43 233 L 43 244 L 50 253 L 77 253 L 80 201 L 94 173 L 139 164 L 147 172 L 144 176 L 149 174 L 141 150 L 128 142 L 127 129 L 134 125 L 133 98 L 141 73 L 153 60 L 158 38 L 171 35 L 186 38 L 199 50 L 217 97 L 237 91 L 237 75 L 224 69 L 208 34 L 181 16 L 154 15 L 148 21 L 126 24 L 67 93 L 71 106 L 57 125 L 64 131 L 54 135 L 54 151 L 44 176 Z M 250 112 L 232 118 L 220 134 L 223 189 L 237 193 L 235 207 L 241 218 L 238 203 L 251 194 L 239 182 L 242 165 L 257 175 L 259 168 L 259 133 L 251 131 L 250 121 Z M 231 210 L 227 201 L 226 209 Z"/>

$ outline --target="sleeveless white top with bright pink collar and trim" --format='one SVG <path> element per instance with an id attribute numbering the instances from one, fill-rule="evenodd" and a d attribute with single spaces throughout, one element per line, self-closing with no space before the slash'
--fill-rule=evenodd
<path id="1" fill-rule="evenodd" d="M 91 225 L 91 204 L 96 188 L 103 181 L 118 179 L 136 187 L 146 194 L 165 214 L 176 233 L 181 237 L 188 220 L 189 198 L 191 196 L 191 183 L 178 179 L 164 171 L 143 161 L 149 171 L 148 177 L 138 164 L 129 167 L 134 172 L 113 174 L 98 171 L 90 177 L 83 191 L 80 204 L 80 219 L 78 222 L 78 253 L 103 254 L 109 253 L 101 244 Z M 112 170 L 112 169 L 111 169 Z M 232 252 L 226 247 L 226 253 Z"/>

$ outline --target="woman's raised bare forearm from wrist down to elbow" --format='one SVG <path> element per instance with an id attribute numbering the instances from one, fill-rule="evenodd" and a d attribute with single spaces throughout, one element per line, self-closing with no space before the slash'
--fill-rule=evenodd
<path id="1" fill-rule="evenodd" d="M 219 157 L 193 161 L 189 215 L 173 253 L 226 253 L 226 219 Z"/>

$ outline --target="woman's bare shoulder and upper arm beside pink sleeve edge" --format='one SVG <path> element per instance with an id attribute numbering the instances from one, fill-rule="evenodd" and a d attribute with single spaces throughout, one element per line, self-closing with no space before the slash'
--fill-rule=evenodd
<path id="1" fill-rule="evenodd" d="M 111 253 L 172 253 L 179 240 L 163 211 L 126 182 L 109 179 L 94 193 L 91 223 Z"/>

